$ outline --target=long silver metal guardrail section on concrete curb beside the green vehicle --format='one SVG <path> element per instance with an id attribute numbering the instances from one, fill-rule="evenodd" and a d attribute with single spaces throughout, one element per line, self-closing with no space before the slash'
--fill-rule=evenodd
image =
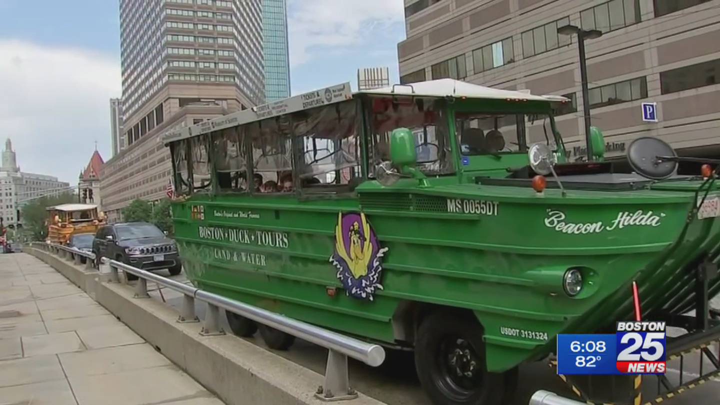
<path id="1" fill-rule="evenodd" d="M 135 285 L 135 298 L 150 297 L 148 295 L 148 280 L 182 293 L 184 301 L 178 318 L 179 322 L 199 322 L 197 316 L 195 316 L 195 300 L 204 301 L 207 304 L 207 313 L 200 334 L 225 334 L 220 327 L 219 316 L 219 310 L 223 308 L 225 311 L 236 313 L 247 319 L 327 348 L 328 362 L 325 367 L 325 382 L 323 386 L 318 387 L 318 390 L 315 391 L 315 396 L 323 401 L 340 401 L 357 397 L 357 393 L 350 386 L 348 357 L 373 367 L 381 365 L 385 360 L 385 351 L 378 344 L 363 342 L 359 339 L 328 331 L 319 326 L 287 318 L 287 316 L 282 316 L 279 313 L 209 293 L 107 257 L 103 257 L 101 260 L 104 264 L 109 264 L 111 282 L 120 282 L 119 270 L 126 273 L 126 282 L 127 273 L 138 276 L 138 282 Z"/>

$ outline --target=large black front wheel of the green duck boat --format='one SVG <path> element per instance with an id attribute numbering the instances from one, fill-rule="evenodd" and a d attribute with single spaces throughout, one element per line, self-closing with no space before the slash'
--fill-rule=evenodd
<path id="1" fill-rule="evenodd" d="M 487 371 L 482 326 L 472 314 L 433 312 L 415 336 L 415 370 L 433 404 L 505 404 L 506 375 Z"/>

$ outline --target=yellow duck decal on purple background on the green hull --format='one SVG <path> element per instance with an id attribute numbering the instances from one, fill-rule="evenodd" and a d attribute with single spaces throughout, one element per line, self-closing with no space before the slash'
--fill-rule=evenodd
<path id="1" fill-rule="evenodd" d="M 387 247 L 380 248 L 364 213 L 338 213 L 335 253 L 330 263 L 338 268 L 336 277 L 347 295 L 373 301 L 375 290 L 382 290 L 380 260 L 385 252 Z"/>

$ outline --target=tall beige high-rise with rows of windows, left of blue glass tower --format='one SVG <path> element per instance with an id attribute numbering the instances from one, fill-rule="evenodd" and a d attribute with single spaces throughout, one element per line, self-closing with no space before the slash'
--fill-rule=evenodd
<path id="1" fill-rule="evenodd" d="M 165 195 L 158 135 L 264 103 L 262 0 L 120 0 L 120 48 L 125 149 L 101 177 L 110 221 Z"/>

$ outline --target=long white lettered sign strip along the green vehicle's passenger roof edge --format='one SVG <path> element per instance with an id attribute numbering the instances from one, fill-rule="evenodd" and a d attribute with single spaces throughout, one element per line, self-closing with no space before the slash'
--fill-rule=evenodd
<path id="1" fill-rule="evenodd" d="M 225 128 L 233 128 L 238 125 L 252 123 L 253 121 L 276 117 L 277 115 L 289 114 L 291 112 L 307 110 L 309 108 L 320 107 L 336 102 L 343 102 L 351 99 L 352 97 L 353 94 L 350 88 L 350 82 L 348 81 L 336 86 L 325 87 L 325 89 L 315 90 L 276 102 L 258 105 L 257 107 L 252 107 L 250 110 L 233 112 L 232 114 L 223 115 L 222 117 L 217 117 L 213 120 L 207 120 L 202 123 L 198 123 L 197 125 L 192 125 L 192 127 L 172 130 L 165 133 L 162 140 L 163 143 L 179 141 L 191 136 L 211 133 Z"/>

